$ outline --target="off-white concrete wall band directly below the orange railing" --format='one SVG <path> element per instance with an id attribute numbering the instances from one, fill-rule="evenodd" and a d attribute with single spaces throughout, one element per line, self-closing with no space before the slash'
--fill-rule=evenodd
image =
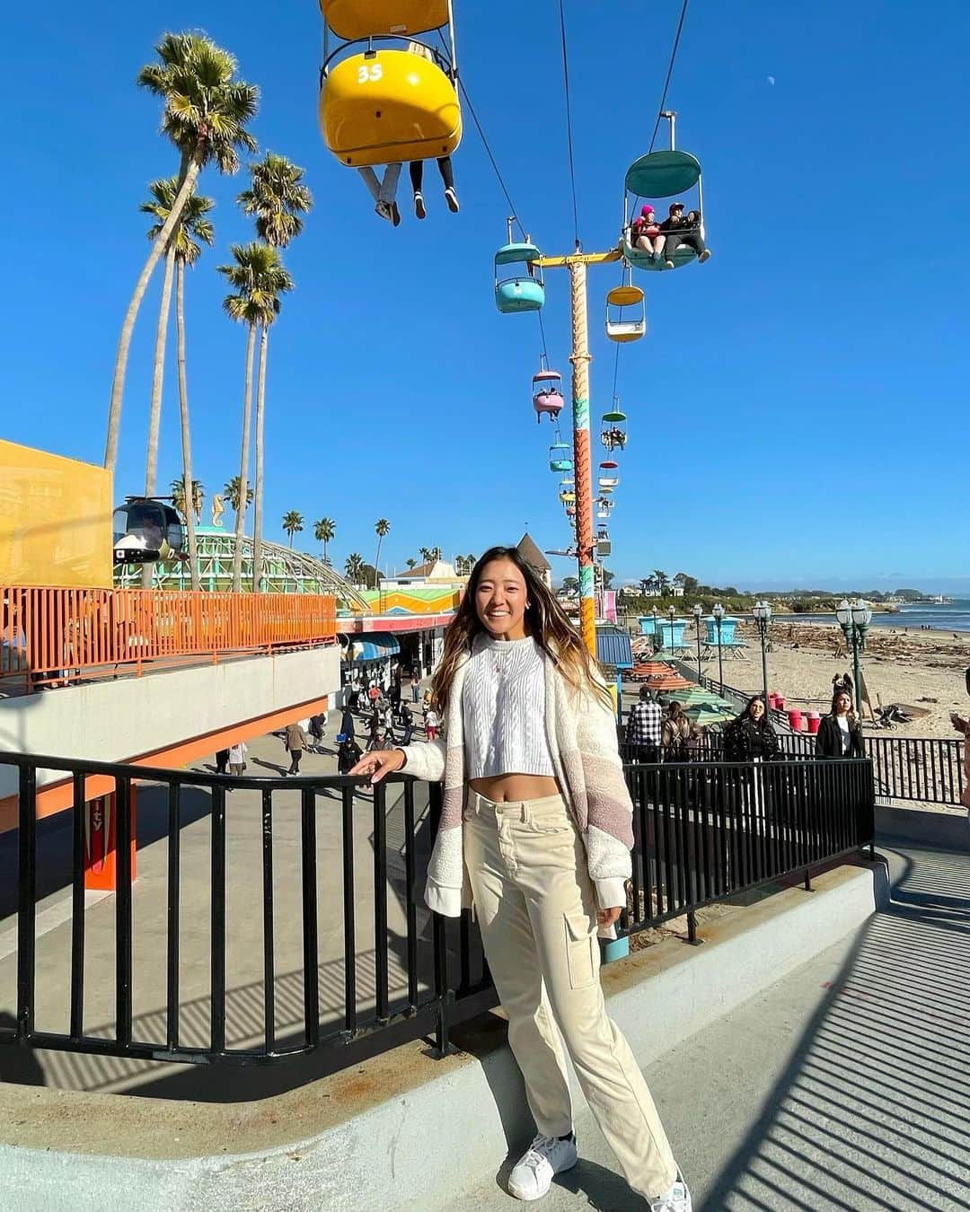
<path id="1" fill-rule="evenodd" d="M 331 645 L 41 691 L 0 699 L 0 748 L 127 761 L 336 694 L 340 682 Z M 57 778 L 63 774 L 46 772 L 39 782 Z M 0 800 L 16 790 L 16 768 L 0 766 Z"/>

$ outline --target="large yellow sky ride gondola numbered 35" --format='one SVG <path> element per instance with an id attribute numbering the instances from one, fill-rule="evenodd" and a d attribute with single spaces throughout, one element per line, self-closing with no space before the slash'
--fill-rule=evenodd
<path id="1" fill-rule="evenodd" d="M 461 143 L 462 114 L 450 0 L 321 0 L 320 8 L 319 120 L 329 150 L 355 168 L 451 155 Z M 407 41 L 440 25 L 451 30 L 450 57 Z M 331 30 L 342 39 L 332 52 Z M 376 45 L 394 40 L 406 48 Z M 358 44 L 360 50 L 341 57 Z"/>

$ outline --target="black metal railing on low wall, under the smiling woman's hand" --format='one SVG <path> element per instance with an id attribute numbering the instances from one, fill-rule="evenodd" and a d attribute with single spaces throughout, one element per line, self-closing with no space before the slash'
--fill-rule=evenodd
<path id="1" fill-rule="evenodd" d="M 17 914 L 16 1025 L 0 1028 L 0 1044 L 255 1064 L 396 1025 L 433 1035 L 443 1053 L 451 1025 L 495 1005 L 470 915 L 446 921 L 423 904 L 436 784 L 393 776 L 364 795 L 340 776 L 236 778 L 16 754 L 0 755 L 2 766 L 17 768 L 19 816 L 0 835 L 0 917 Z M 866 760 L 626 774 L 637 841 L 626 933 L 686 914 L 694 937 L 696 909 L 713 899 L 873 839 Z M 132 789 L 131 813 L 115 813 L 116 891 L 86 904 L 85 801 L 108 791 L 129 805 Z M 52 794 L 67 807 L 38 821 Z M 39 902 L 68 885 L 70 914 L 39 934 Z M 11 976 L 0 961 L 0 1007 Z"/>

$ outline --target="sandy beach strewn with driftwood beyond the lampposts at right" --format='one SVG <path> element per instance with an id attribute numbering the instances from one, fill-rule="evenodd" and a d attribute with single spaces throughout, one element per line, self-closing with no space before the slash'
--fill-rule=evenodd
<path id="1" fill-rule="evenodd" d="M 748 645 L 747 661 L 724 662 L 729 686 L 755 693 L 761 690 L 761 648 L 752 624 L 738 624 L 737 638 Z M 691 645 L 690 633 L 685 642 Z M 832 701 L 832 678 L 852 671 L 852 654 L 846 652 L 841 629 L 829 623 L 772 623 L 768 653 L 768 685 L 784 696 L 786 707 L 827 711 Z M 838 653 L 838 657 L 837 657 Z M 964 719 L 970 697 L 964 687 L 964 670 L 970 665 L 970 633 L 913 631 L 903 628 L 869 628 L 867 648 L 860 656 L 873 707 L 877 697 L 884 707 L 909 703 L 928 711 L 909 724 L 897 725 L 886 736 L 958 738 L 949 713 Z M 718 662 L 703 662 L 709 678 L 718 676 Z M 921 702 L 923 701 L 923 702 Z M 929 702 L 928 702 L 929 701 Z M 867 727 L 868 731 L 868 727 Z"/>

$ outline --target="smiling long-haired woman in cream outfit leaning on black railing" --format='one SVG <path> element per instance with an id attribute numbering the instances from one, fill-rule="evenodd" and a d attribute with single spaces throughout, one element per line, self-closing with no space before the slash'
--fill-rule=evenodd
<path id="1" fill-rule="evenodd" d="M 424 899 L 449 917 L 470 903 L 478 910 L 540 1133 L 509 1190 L 538 1199 L 576 1165 L 554 1017 L 630 1187 L 651 1208 L 690 1212 L 650 1091 L 606 1017 L 598 979 L 597 933 L 615 937 L 633 845 L 610 696 L 518 548 L 493 547 L 472 570 L 432 691 L 445 737 L 406 756 L 371 753 L 352 773 L 377 782 L 406 764 L 418 778 L 444 782 Z"/>

